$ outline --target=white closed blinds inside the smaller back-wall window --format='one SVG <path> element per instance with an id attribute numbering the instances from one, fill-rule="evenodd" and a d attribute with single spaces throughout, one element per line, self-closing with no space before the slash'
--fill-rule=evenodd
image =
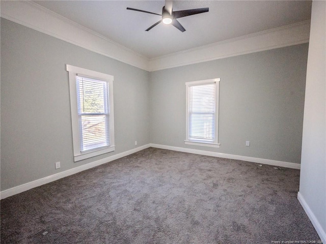
<path id="1" fill-rule="evenodd" d="M 189 140 L 214 142 L 215 83 L 189 87 Z"/>

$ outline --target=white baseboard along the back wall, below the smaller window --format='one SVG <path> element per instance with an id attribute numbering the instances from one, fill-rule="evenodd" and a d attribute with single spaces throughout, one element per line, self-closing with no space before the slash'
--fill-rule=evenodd
<path id="1" fill-rule="evenodd" d="M 151 143 L 150 146 L 156 147 L 156 148 L 161 148 L 161 149 L 173 150 L 173 151 L 182 151 L 183 153 L 199 154 L 199 155 L 225 158 L 225 159 L 237 159 L 237 160 L 249 161 L 249 162 L 254 162 L 254 163 L 259 163 L 259 164 L 268 164 L 268 165 L 291 168 L 291 169 L 300 169 L 300 164 L 276 161 L 276 160 L 270 160 L 270 159 L 259 159 L 259 158 L 232 155 L 232 154 L 222 154 L 222 153 L 216 153 L 214 151 L 197 150 L 197 149 L 190 149 L 190 148 L 184 148 L 184 147 L 159 145 L 159 144 L 153 144 L 153 143 Z"/>

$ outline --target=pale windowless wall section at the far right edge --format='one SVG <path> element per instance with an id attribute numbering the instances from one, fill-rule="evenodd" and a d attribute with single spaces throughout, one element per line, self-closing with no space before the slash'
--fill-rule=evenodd
<path id="1" fill-rule="evenodd" d="M 326 242 L 326 2 L 313 1 L 303 125 L 300 194 Z M 319 234 L 321 235 L 321 233 Z"/>

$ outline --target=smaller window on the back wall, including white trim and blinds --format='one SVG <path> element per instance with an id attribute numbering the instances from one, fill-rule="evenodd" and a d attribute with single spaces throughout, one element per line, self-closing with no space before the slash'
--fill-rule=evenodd
<path id="1" fill-rule="evenodd" d="M 220 78 L 186 82 L 185 144 L 220 147 Z"/>

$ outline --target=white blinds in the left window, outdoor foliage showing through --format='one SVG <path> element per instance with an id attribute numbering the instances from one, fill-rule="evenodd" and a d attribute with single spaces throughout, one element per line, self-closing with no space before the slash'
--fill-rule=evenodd
<path id="1" fill-rule="evenodd" d="M 80 150 L 110 146 L 106 81 L 76 76 Z"/>

